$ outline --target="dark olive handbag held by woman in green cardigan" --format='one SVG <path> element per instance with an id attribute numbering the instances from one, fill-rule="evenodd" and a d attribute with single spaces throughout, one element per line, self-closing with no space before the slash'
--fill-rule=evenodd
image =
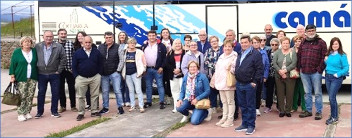
<path id="1" fill-rule="evenodd" d="M 12 84 L 14 84 L 14 85 L 12 85 Z M 11 90 L 12 90 L 12 92 L 11 92 Z M 6 105 L 15 105 L 15 106 L 20 105 L 21 98 L 17 92 L 18 92 L 17 83 L 10 83 L 4 92 L 4 97 L 3 97 L 3 100 L 1 101 L 1 103 L 6 104 Z"/>

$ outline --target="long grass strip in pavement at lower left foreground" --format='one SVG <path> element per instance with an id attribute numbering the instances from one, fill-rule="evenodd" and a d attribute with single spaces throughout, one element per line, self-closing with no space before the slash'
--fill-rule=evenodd
<path id="1" fill-rule="evenodd" d="M 85 128 L 91 127 L 93 125 L 97 125 L 99 123 L 105 122 L 105 121 L 110 120 L 110 119 L 111 118 L 101 117 L 99 119 L 84 123 L 82 125 L 75 126 L 75 127 L 71 128 L 71 129 L 68 129 L 68 130 L 64 130 L 64 131 L 60 131 L 60 132 L 52 132 L 49 135 L 44 136 L 44 137 L 65 137 L 67 135 L 70 135 L 72 133 L 78 132 L 80 130 L 83 130 Z"/>

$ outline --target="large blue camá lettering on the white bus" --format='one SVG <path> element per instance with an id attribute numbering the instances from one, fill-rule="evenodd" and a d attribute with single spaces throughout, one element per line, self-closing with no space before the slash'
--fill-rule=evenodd
<path id="1" fill-rule="evenodd" d="M 346 6 L 347 4 L 342 4 L 340 8 L 343 9 Z M 298 22 L 296 22 L 295 19 L 298 20 Z M 351 27 L 351 14 L 350 12 L 348 13 L 345 10 L 337 11 L 334 14 L 331 14 L 328 11 L 312 11 L 306 16 L 299 11 L 294 11 L 292 13 L 283 11 L 278 12 L 273 16 L 273 24 L 275 27 L 282 29 L 285 29 L 287 27 L 296 28 L 298 24 L 301 24 L 303 26 L 308 24 L 314 24 L 317 26 L 317 28 L 329 28 L 332 25 L 335 25 L 339 28 L 345 28 Z"/>

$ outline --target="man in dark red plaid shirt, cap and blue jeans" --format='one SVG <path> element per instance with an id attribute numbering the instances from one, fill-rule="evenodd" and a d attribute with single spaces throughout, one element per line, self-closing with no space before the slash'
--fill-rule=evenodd
<path id="1" fill-rule="evenodd" d="M 300 77 L 304 88 L 304 100 L 306 111 L 299 117 L 313 116 L 312 89 L 315 93 L 315 119 L 322 119 L 323 95 L 322 95 L 322 74 L 325 70 L 324 57 L 327 52 L 326 42 L 316 33 L 315 25 L 305 27 L 306 38 L 303 39 L 297 53 L 297 68 L 300 69 Z"/>

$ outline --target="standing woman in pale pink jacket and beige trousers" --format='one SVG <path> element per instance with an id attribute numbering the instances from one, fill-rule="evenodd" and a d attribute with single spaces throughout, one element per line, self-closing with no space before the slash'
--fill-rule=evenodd
<path id="1" fill-rule="evenodd" d="M 221 127 L 234 126 L 234 113 L 235 113 L 235 90 L 233 85 L 229 87 L 226 83 L 227 72 L 230 71 L 232 75 L 235 74 L 235 65 L 237 60 L 237 53 L 232 50 L 233 41 L 226 39 L 224 41 L 224 53 L 219 56 L 214 73 L 215 89 L 219 90 L 220 98 L 223 103 L 223 118 L 215 125 Z"/>

